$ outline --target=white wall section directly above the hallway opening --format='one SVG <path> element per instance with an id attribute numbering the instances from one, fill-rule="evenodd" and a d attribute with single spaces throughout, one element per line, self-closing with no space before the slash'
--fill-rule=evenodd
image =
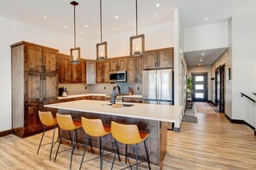
<path id="1" fill-rule="evenodd" d="M 228 21 L 184 29 L 184 52 L 228 46 Z"/>

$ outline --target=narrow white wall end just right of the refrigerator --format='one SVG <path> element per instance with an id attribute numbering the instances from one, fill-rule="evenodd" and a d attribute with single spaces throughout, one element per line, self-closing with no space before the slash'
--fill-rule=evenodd
<path id="1" fill-rule="evenodd" d="M 184 68 L 182 66 L 182 61 Z M 178 9 L 174 9 L 174 105 L 185 106 L 185 76 L 187 63 L 184 58 L 184 27 Z"/>

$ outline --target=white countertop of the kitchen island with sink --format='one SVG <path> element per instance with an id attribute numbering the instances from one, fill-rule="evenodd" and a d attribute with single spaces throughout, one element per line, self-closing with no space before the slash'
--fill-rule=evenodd
<path id="1" fill-rule="evenodd" d="M 134 106 L 122 106 L 121 108 L 114 108 L 112 106 L 108 106 L 108 104 L 109 101 L 75 100 L 45 106 L 69 111 L 91 112 L 97 114 L 121 116 L 127 118 L 142 118 L 163 122 L 176 122 L 182 113 L 182 106 L 127 103 L 133 104 Z"/>

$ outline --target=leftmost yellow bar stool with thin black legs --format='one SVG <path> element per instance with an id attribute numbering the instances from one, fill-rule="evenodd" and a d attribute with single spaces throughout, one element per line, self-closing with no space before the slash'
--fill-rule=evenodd
<path id="1" fill-rule="evenodd" d="M 41 146 L 47 145 L 47 144 L 51 144 L 51 151 L 50 151 L 50 155 L 49 155 L 49 160 L 51 160 L 52 152 L 53 152 L 53 147 L 54 147 L 54 145 L 55 145 L 55 143 L 56 143 L 56 142 L 55 142 L 55 143 L 53 144 L 54 135 L 55 135 L 55 129 L 56 129 L 56 127 L 58 126 L 57 120 L 56 120 L 56 118 L 53 118 L 52 112 L 41 112 L 41 111 L 39 111 L 38 113 L 39 113 L 39 118 L 40 118 L 41 124 L 44 125 L 44 131 L 43 131 L 43 133 L 42 133 L 42 135 L 41 135 L 41 141 L 40 141 L 40 143 L 39 143 L 39 146 L 38 146 L 38 149 L 37 149 L 37 153 L 36 153 L 36 154 L 38 155 L 39 150 L 41 149 Z M 45 136 L 46 129 L 47 129 L 47 127 L 50 127 L 50 126 L 53 126 L 53 127 L 54 127 L 54 128 L 53 128 L 54 130 L 53 130 L 52 143 L 41 144 L 41 143 L 42 143 L 42 140 L 43 140 L 43 138 L 44 138 L 44 136 Z"/>

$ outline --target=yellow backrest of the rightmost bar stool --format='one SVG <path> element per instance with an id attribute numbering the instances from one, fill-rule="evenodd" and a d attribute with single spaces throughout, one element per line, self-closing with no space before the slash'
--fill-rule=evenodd
<path id="1" fill-rule="evenodd" d="M 119 143 L 136 144 L 142 142 L 140 132 L 136 124 L 118 124 L 111 121 L 111 133 Z"/>

